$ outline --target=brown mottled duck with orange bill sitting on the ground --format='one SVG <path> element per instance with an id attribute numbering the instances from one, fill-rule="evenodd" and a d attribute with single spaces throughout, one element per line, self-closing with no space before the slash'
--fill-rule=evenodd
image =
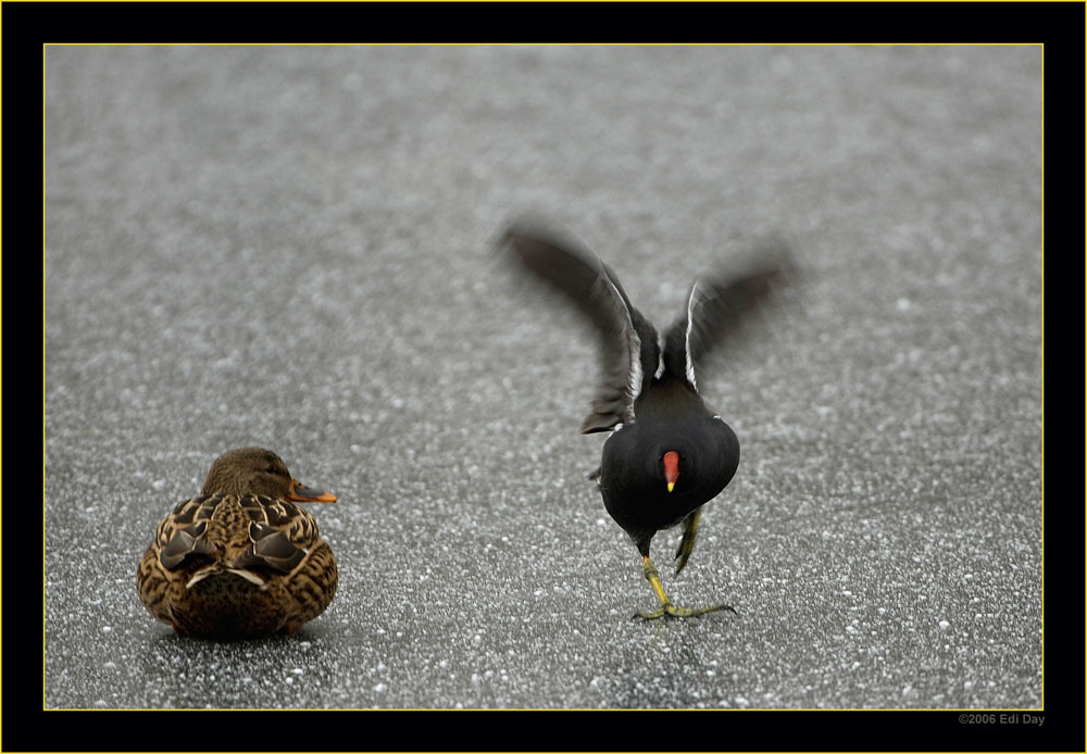
<path id="1" fill-rule="evenodd" d="M 335 501 L 270 450 L 223 453 L 200 494 L 159 524 L 137 573 L 140 601 L 182 636 L 293 633 L 328 607 L 339 581 L 332 548 L 296 503 Z"/>

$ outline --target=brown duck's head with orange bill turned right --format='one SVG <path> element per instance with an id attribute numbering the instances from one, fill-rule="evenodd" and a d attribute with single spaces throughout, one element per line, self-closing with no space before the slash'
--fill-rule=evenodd
<path id="1" fill-rule="evenodd" d="M 202 494 L 264 494 L 300 502 L 332 503 L 332 492 L 300 483 L 278 455 L 263 448 L 238 448 L 215 458 Z"/>

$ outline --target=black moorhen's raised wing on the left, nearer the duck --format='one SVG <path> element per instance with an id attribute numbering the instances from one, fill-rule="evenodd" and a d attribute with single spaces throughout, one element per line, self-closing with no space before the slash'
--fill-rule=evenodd
<path id="1" fill-rule="evenodd" d="M 634 401 L 660 356 L 657 331 L 630 305 L 614 273 L 573 238 L 539 223 L 517 222 L 498 248 L 562 293 L 597 331 L 601 374 L 585 433 L 634 420 Z"/>

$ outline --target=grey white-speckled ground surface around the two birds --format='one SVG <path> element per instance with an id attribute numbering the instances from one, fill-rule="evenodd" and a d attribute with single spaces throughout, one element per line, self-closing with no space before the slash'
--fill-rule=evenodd
<path id="1" fill-rule="evenodd" d="M 1041 705 L 1041 53 L 50 47 L 49 708 Z M 659 325 L 751 239 L 797 286 L 700 377 L 739 472 L 679 604 L 585 479 L 595 344 L 496 265 L 563 224 Z M 292 637 L 140 604 L 222 451 L 339 495 Z"/>

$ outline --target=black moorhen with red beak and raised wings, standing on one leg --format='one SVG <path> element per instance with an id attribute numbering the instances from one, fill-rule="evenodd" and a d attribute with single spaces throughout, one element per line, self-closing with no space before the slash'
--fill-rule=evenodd
<path id="1" fill-rule="evenodd" d="M 660 600 L 658 610 L 634 617 L 735 613 L 728 605 L 673 605 L 649 560 L 649 544 L 661 529 L 683 523 L 675 555 L 675 573 L 682 571 L 695 549 L 702 505 L 736 473 L 739 442 L 699 395 L 695 367 L 780 280 L 784 247 L 757 250 L 746 273 L 697 280 L 682 315 L 660 340 L 612 269 L 583 244 L 539 223 L 517 221 L 498 247 L 562 292 L 600 336 L 602 378 L 582 432 L 611 430 L 600 468 L 589 478 L 641 553 L 646 579 Z"/>

